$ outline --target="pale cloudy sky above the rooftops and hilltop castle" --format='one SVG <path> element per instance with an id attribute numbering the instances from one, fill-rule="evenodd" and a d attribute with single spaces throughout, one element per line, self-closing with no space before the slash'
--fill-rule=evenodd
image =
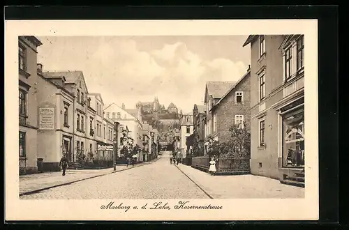
<path id="1" fill-rule="evenodd" d="M 246 36 L 40 37 L 38 62 L 47 70 L 82 70 L 89 93 L 106 105 L 155 96 L 183 112 L 202 104 L 207 81 L 234 81 L 250 61 Z"/>

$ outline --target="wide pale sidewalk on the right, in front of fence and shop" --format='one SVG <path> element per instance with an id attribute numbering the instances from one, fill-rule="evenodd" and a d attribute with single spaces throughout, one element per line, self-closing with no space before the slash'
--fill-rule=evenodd
<path id="1" fill-rule="evenodd" d="M 184 164 L 177 167 L 214 199 L 304 198 L 304 188 L 264 176 L 211 176 Z"/>

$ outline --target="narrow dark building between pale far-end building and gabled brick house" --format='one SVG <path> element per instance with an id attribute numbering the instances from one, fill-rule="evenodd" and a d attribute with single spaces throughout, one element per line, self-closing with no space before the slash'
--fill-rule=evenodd
<path id="1" fill-rule="evenodd" d="M 205 105 L 194 105 L 193 109 L 193 154 L 204 155 L 205 141 Z"/>

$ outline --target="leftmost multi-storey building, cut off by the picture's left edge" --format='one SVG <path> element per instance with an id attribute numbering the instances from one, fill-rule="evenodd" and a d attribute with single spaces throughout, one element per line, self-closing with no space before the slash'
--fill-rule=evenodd
<path id="1" fill-rule="evenodd" d="M 42 45 L 34 36 L 18 37 L 20 174 L 36 173 L 38 141 L 37 52 Z M 52 122 L 51 122 L 52 124 Z M 52 128 L 52 126 L 50 127 Z"/>

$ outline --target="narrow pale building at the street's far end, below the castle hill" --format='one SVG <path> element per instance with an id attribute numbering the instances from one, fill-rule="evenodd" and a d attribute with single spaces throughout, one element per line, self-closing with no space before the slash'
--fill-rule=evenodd
<path id="1" fill-rule="evenodd" d="M 187 146 L 186 140 L 194 132 L 194 123 L 193 123 L 193 113 L 183 114 L 180 119 L 180 130 L 181 130 L 181 158 L 186 158 L 187 154 L 190 154 L 193 146 Z"/>

